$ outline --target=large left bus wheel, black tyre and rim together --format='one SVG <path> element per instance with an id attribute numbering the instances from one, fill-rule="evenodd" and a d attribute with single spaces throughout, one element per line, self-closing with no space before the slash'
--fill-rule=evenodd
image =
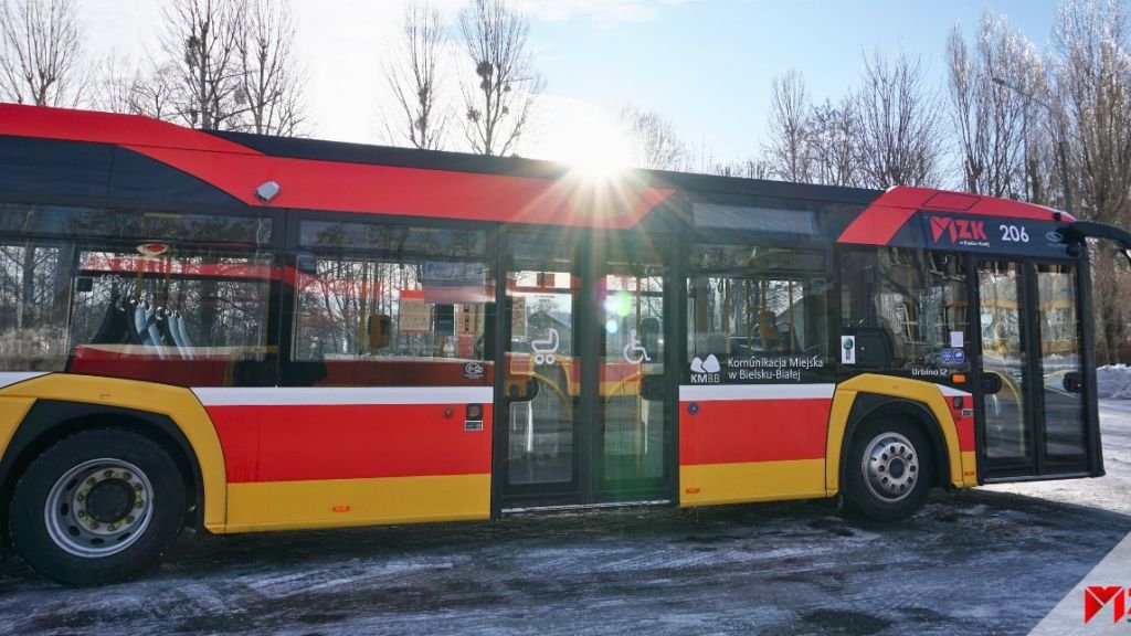
<path id="1" fill-rule="evenodd" d="M 141 435 L 88 430 L 32 461 L 16 483 L 9 528 L 16 551 L 64 585 L 135 576 L 176 539 L 184 482 L 165 448 Z"/>

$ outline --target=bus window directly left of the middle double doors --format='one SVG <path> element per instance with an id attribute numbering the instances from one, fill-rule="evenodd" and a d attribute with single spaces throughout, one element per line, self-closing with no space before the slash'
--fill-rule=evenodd
<path id="1" fill-rule="evenodd" d="M 318 373 L 290 384 L 491 384 L 483 232 L 310 221 L 300 244 L 292 360 Z"/>

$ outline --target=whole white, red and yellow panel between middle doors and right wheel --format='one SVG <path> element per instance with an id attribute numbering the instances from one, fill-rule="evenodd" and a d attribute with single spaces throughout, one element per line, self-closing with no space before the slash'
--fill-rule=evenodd
<path id="1" fill-rule="evenodd" d="M 680 505 L 823 497 L 832 390 L 680 387 Z"/>

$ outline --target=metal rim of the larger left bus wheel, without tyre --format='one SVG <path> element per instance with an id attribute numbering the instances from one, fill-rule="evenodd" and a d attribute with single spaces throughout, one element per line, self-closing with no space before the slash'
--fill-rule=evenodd
<path id="1" fill-rule="evenodd" d="M 43 517 L 48 534 L 62 550 L 83 558 L 116 555 L 149 526 L 153 485 L 129 462 L 83 462 L 55 481 Z"/>

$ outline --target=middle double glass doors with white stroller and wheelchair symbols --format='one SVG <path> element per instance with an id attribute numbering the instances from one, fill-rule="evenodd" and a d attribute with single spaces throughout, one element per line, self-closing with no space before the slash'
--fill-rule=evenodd
<path id="1" fill-rule="evenodd" d="M 666 269 L 654 243 L 506 233 L 497 507 L 670 496 L 674 392 L 664 390 Z"/>

